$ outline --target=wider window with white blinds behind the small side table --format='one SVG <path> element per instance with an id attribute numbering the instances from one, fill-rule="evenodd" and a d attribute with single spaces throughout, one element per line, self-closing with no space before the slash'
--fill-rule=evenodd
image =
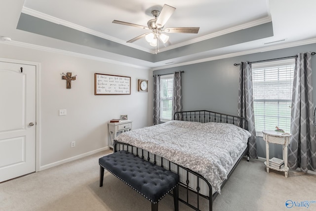
<path id="1" fill-rule="evenodd" d="M 295 59 L 252 65 L 253 108 L 256 133 L 291 127 L 291 100 Z"/>

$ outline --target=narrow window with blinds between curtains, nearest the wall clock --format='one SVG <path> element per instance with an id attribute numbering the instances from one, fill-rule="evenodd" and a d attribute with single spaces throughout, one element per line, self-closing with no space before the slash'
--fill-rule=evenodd
<path id="1" fill-rule="evenodd" d="M 173 74 L 160 76 L 160 121 L 172 120 Z"/>

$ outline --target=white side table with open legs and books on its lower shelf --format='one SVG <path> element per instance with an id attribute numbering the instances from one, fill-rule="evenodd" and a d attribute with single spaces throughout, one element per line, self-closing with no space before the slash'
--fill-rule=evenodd
<path id="1" fill-rule="evenodd" d="M 263 140 L 266 141 L 266 168 L 267 172 L 269 173 L 269 169 L 274 169 L 278 171 L 284 171 L 285 177 L 287 177 L 288 167 L 287 167 L 287 146 L 290 141 L 291 134 L 282 135 L 282 132 L 276 132 L 274 130 L 263 130 Z M 283 160 L 284 160 L 284 167 L 280 169 L 276 169 L 269 166 L 269 143 L 274 144 L 281 144 L 283 146 Z"/>

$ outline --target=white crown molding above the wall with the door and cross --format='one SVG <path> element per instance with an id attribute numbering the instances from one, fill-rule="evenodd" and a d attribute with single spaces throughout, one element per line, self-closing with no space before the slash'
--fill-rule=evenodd
<path id="1" fill-rule="evenodd" d="M 98 57 L 98 56 L 91 56 L 91 55 L 87 55 L 87 54 L 83 54 L 83 53 L 76 53 L 73 51 L 67 51 L 67 50 L 61 50 L 61 49 L 52 48 L 52 47 L 30 44 L 30 43 L 26 43 L 26 42 L 10 41 L 10 42 L 0 42 L 0 43 L 14 45 L 14 46 L 18 46 L 18 47 L 26 47 L 26 48 L 31 48 L 31 49 L 35 49 L 35 50 L 42 50 L 42 51 L 47 51 L 47 52 L 52 52 L 52 53 L 60 53 L 60 54 L 68 55 L 68 56 L 76 56 L 76 57 L 80 57 L 80 58 L 91 59 L 91 60 L 96 60 L 96 61 L 101 61 L 101 62 L 107 62 L 107 63 L 117 64 L 117 65 L 123 65 L 123 66 L 138 68 L 138 69 L 149 69 L 149 67 L 145 67 L 145 66 L 133 65 L 130 63 L 119 62 L 119 61 L 112 60 L 112 59 L 106 59 L 106 58 L 102 58 L 102 57 Z"/>

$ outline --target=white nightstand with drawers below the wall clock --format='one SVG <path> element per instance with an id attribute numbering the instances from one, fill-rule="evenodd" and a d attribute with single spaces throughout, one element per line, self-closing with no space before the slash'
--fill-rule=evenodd
<path id="1" fill-rule="evenodd" d="M 113 148 L 113 140 L 119 133 L 132 130 L 132 122 L 131 120 L 122 120 L 120 123 L 108 123 L 109 147 Z"/>

